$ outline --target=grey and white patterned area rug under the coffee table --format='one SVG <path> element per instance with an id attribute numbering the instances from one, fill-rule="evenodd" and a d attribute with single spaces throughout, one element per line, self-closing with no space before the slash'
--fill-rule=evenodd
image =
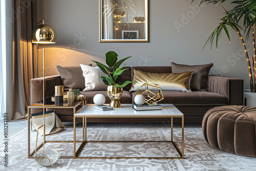
<path id="1" fill-rule="evenodd" d="M 81 124 L 78 124 L 80 126 Z M 66 123 L 66 131 L 47 136 L 51 140 L 60 136 L 63 140 L 73 140 L 72 123 Z M 82 128 L 77 127 L 77 140 L 82 139 Z M 88 140 L 126 141 L 170 140 L 169 123 L 89 123 Z M 8 168 L 0 165 L 0 170 L 256 170 L 256 158 L 234 155 L 211 147 L 202 135 L 200 123 L 185 123 L 185 150 L 183 160 L 165 159 L 58 159 L 50 167 L 42 167 L 34 159 L 28 159 L 27 129 L 9 139 Z M 42 142 L 39 135 L 38 143 Z M 35 147 L 36 132 L 31 133 L 31 151 Z M 55 139 L 57 140 L 57 138 Z M 174 141 L 181 142 L 181 124 L 174 123 Z M 53 143 L 58 146 L 59 143 Z M 73 143 L 61 152 L 62 156 L 73 155 Z M 76 145 L 78 148 L 79 144 Z M 52 150 L 51 143 L 46 148 Z M 62 147 L 60 147 L 62 148 Z M 0 145 L 3 160 L 4 145 Z M 2 155 L 3 154 L 3 155 Z M 88 143 L 81 157 L 165 157 L 177 156 L 174 147 L 167 143 Z"/>

